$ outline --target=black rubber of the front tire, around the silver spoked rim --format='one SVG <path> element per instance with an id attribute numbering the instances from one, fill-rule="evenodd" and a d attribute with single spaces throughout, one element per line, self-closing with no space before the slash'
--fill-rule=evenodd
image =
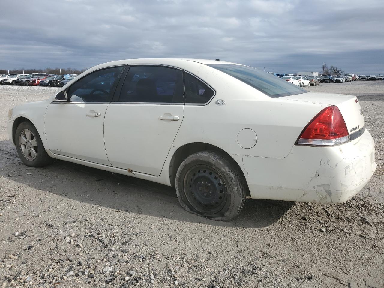
<path id="1" fill-rule="evenodd" d="M 22 133 L 24 131 L 30 131 L 31 132 L 31 139 L 34 141 L 33 143 L 36 143 L 36 149 L 33 147 L 33 151 L 35 151 L 36 156 L 34 159 L 28 159 L 24 154 L 23 151 L 27 149 L 27 146 L 32 146 L 32 144 L 24 145 L 23 143 L 20 144 L 20 137 L 22 136 Z M 25 143 L 27 144 L 27 143 Z M 51 162 L 51 157 L 48 156 L 47 152 L 44 150 L 44 145 L 43 142 L 41 142 L 41 138 L 39 133 L 37 132 L 35 126 L 31 122 L 21 122 L 19 126 L 17 126 L 16 133 L 15 133 L 15 145 L 16 145 L 16 150 L 17 154 L 19 155 L 20 159 L 23 161 L 23 163 L 26 166 L 32 166 L 32 167 L 41 167 L 45 166 L 49 162 Z M 22 146 L 24 146 L 24 150 L 22 150 Z M 30 158 L 32 158 L 31 151 L 29 152 L 28 155 L 31 155 Z"/>

